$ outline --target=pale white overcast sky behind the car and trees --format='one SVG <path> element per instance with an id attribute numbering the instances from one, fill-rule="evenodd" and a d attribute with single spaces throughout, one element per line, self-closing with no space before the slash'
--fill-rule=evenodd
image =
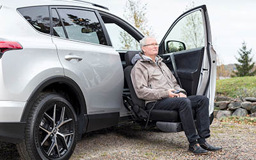
<path id="1" fill-rule="evenodd" d="M 124 17 L 127 0 L 88 0 L 106 6 L 118 17 Z M 154 29 L 157 41 L 161 42 L 174 20 L 181 15 L 190 0 L 140 0 L 147 3 L 148 24 Z M 246 42 L 256 61 L 256 1 L 194 0 L 195 6 L 205 4 L 211 24 L 212 45 L 218 54 L 217 64 L 237 63 L 237 51 Z M 236 57 L 235 57 L 236 56 Z"/>

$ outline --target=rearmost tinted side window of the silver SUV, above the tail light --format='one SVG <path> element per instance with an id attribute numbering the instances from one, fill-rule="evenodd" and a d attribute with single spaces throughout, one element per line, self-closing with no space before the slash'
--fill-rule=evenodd
<path id="1" fill-rule="evenodd" d="M 50 16 L 48 6 L 20 8 L 18 11 L 36 30 L 42 33 L 50 33 Z"/>

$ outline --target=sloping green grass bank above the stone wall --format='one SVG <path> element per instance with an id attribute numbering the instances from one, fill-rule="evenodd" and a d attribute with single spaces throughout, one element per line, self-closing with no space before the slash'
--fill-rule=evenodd
<path id="1" fill-rule="evenodd" d="M 216 95 L 233 98 L 256 97 L 256 76 L 219 79 L 216 81 Z"/>

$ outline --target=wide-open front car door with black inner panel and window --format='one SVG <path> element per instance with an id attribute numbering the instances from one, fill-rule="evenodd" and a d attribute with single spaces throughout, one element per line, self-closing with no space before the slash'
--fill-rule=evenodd
<path id="1" fill-rule="evenodd" d="M 188 95 L 206 95 L 214 108 L 216 52 L 205 5 L 180 15 L 159 45 L 159 54 Z M 175 74 L 177 73 L 177 74 Z"/>

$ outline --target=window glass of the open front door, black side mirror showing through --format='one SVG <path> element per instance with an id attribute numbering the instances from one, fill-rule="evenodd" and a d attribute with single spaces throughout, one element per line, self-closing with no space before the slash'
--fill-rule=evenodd
<path id="1" fill-rule="evenodd" d="M 186 15 L 175 24 L 164 40 L 166 52 L 182 51 L 204 46 L 204 24 L 200 10 Z"/>

